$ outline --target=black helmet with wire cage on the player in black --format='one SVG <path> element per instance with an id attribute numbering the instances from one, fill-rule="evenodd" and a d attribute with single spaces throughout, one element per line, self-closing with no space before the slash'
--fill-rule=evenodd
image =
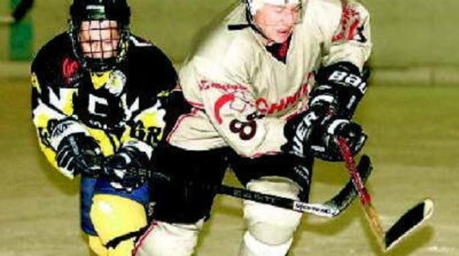
<path id="1" fill-rule="evenodd" d="M 73 0 L 70 16 L 69 34 L 72 38 L 73 51 L 82 66 L 95 72 L 108 71 L 125 59 L 130 36 L 131 16 L 131 10 L 126 0 Z M 116 39 L 119 39 L 119 43 L 111 57 L 85 55 L 80 36 L 84 21 L 116 21 L 117 26 L 115 28 L 119 31 L 119 38 Z"/>

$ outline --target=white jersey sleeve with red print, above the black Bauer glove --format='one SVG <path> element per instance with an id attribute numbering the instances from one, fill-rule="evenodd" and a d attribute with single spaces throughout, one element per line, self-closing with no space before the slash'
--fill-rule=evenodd
<path id="1" fill-rule="evenodd" d="M 339 23 L 331 27 L 331 43 L 326 44 L 322 66 L 337 62 L 350 62 L 360 71 L 371 53 L 370 15 L 363 5 L 355 1 L 338 1 L 331 13 L 340 13 Z M 338 21 L 338 19 L 336 19 Z M 336 24 L 329 19 L 330 24 Z M 329 24 L 329 25 L 330 25 Z"/>

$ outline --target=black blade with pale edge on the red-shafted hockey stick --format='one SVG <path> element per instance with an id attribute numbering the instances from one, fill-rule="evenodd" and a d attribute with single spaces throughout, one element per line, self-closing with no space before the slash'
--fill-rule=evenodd
<path id="1" fill-rule="evenodd" d="M 425 199 L 421 203 L 414 205 L 397 222 L 395 222 L 384 235 L 385 251 L 394 248 L 403 238 L 419 227 L 425 220 L 428 220 L 434 213 L 434 202 Z"/>

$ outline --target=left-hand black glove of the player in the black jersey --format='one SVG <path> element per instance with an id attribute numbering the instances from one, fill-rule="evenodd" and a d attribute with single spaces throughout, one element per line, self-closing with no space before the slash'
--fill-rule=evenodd
<path id="1" fill-rule="evenodd" d="M 103 155 L 95 139 L 84 133 L 75 133 L 62 139 L 55 159 L 64 173 L 97 177 Z"/>

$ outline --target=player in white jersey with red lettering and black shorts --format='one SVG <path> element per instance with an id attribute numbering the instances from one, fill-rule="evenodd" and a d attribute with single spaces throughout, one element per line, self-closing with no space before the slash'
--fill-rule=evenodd
<path id="1" fill-rule="evenodd" d="M 360 3 L 243 0 L 182 66 L 188 107 L 156 151 L 156 171 L 219 184 L 231 166 L 249 190 L 307 201 L 314 158 L 341 161 L 338 136 L 362 149 L 351 117 L 370 52 Z M 156 222 L 135 255 L 192 255 L 214 194 L 158 182 L 152 196 Z M 286 255 L 301 214 L 251 201 L 243 213 L 239 255 Z"/>

